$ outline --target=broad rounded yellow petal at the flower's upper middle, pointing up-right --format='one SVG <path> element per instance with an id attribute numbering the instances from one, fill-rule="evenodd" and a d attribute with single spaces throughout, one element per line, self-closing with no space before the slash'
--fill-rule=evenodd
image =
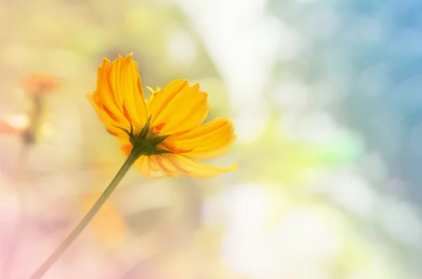
<path id="1" fill-rule="evenodd" d="M 165 135 L 194 129 L 205 120 L 208 110 L 207 93 L 199 90 L 199 84 L 189 86 L 184 79 L 174 80 L 148 105 L 151 131 Z"/>

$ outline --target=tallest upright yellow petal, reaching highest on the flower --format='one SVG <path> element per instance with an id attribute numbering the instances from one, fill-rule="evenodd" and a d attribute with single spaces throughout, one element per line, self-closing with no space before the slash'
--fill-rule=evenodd
<path id="1" fill-rule="evenodd" d="M 107 82 L 124 117 L 132 124 L 143 126 L 147 118 L 146 106 L 138 65 L 132 60 L 132 53 L 125 58 L 119 56 L 111 63 L 107 69 Z"/>

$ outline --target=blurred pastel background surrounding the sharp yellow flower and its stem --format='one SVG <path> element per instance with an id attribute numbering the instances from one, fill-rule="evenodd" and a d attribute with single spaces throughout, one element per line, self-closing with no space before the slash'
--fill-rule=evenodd
<path id="1" fill-rule="evenodd" d="M 212 163 L 239 171 L 132 169 L 44 278 L 421 279 L 421 15 L 416 0 L 0 1 L 0 278 L 27 278 L 120 168 L 84 93 L 103 57 L 133 52 L 146 97 L 189 79 L 208 119 L 234 119 Z"/>

